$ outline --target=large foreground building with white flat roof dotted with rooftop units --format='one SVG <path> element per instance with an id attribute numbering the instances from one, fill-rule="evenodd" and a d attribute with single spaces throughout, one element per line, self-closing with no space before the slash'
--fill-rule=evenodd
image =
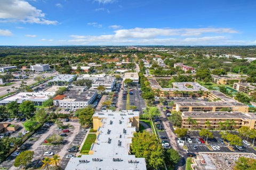
<path id="1" fill-rule="evenodd" d="M 133 133 L 139 130 L 139 112 L 95 112 L 93 129 L 97 130 L 97 139 L 89 155 L 70 158 L 66 170 L 146 170 L 145 158 L 129 155 Z"/>

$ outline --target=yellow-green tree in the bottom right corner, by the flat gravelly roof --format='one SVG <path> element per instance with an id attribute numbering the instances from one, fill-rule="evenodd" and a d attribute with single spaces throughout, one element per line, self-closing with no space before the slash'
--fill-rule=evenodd
<path id="1" fill-rule="evenodd" d="M 236 161 L 234 170 L 251 170 L 256 169 L 256 159 L 239 157 Z"/>

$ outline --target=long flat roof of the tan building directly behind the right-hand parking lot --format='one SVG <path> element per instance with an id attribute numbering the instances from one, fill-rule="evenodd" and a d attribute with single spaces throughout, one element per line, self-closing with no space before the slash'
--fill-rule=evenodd
<path id="1" fill-rule="evenodd" d="M 243 120 L 256 120 L 253 113 L 242 112 L 182 112 L 184 118 L 242 118 Z"/>

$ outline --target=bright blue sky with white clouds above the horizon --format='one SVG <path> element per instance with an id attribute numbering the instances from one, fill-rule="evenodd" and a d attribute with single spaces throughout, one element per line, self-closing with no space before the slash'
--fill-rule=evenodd
<path id="1" fill-rule="evenodd" d="M 256 1 L 0 0 L 0 45 L 256 45 Z"/>

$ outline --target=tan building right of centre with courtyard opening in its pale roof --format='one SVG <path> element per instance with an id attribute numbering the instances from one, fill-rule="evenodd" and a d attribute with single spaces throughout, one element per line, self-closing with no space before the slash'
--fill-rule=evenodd
<path id="1" fill-rule="evenodd" d="M 172 88 L 161 88 L 161 97 L 206 97 L 205 87 L 197 82 L 173 82 Z M 155 86 L 156 88 L 158 86 Z"/>

